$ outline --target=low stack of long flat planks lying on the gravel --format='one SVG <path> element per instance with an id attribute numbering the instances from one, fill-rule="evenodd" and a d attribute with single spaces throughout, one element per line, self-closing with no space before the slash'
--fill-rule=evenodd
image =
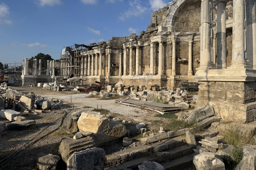
<path id="1" fill-rule="evenodd" d="M 134 107 L 142 107 L 144 109 L 149 109 L 151 111 L 155 111 L 161 114 L 165 113 L 176 113 L 180 112 L 181 108 L 177 106 L 166 105 L 162 103 L 153 103 L 149 101 L 141 101 L 134 99 L 118 99 L 116 103 L 134 106 Z"/>

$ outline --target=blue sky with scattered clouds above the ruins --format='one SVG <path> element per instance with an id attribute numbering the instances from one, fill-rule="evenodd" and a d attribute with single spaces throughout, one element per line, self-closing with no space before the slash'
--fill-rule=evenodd
<path id="1" fill-rule="evenodd" d="M 21 63 L 38 53 L 140 35 L 158 8 L 172 0 L 0 0 L 0 62 Z"/>

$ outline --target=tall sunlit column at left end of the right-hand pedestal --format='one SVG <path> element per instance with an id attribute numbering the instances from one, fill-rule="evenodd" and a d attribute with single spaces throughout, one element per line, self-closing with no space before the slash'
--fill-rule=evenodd
<path id="1" fill-rule="evenodd" d="M 206 70 L 211 66 L 210 55 L 210 10 L 209 0 L 202 0 L 201 2 L 201 52 L 200 52 L 200 66 L 198 69 Z"/>

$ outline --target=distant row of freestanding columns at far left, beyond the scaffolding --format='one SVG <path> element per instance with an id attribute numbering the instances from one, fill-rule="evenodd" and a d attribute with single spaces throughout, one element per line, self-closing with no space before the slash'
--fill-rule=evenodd
<path id="1" fill-rule="evenodd" d="M 28 58 L 24 58 L 23 59 L 23 69 L 22 69 L 22 75 L 28 75 Z M 50 62 L 50 65 L 49 65 L 49 60 L 47 60 L 47 70 L 46 70 L 46 75 L 49 75 L 49 66 L 51 67 L 51 72 L 50 72 L 50 75 L 51 76 L 55 76 L 55 62 L 54 60 L 52 60 Z M 39 66 L 38 66 L 38 73 L 37 73 L 37 59 L 35 58 L 33 60 L 33 75 L 42 75 L 42 60 L 40 59 L 39 60 Z"/>

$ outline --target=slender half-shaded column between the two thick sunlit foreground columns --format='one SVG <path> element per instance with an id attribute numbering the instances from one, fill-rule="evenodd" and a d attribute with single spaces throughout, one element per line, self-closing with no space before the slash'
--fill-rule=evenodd
<path id="1" fill-rule="evenodd" d="M 226 2 L 217 5 L 217 68 L 227 69 Z"/>

